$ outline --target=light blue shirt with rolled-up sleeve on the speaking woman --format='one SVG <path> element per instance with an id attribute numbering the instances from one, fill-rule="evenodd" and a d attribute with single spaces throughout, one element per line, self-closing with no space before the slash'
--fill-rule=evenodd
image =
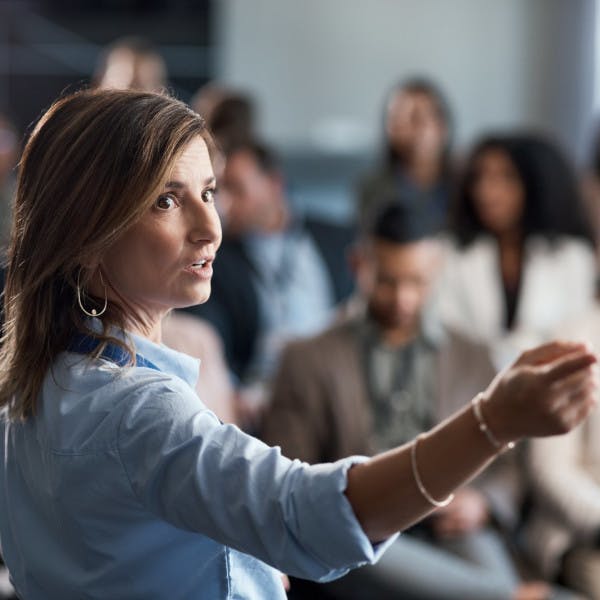
<path id="1" fill-rule="evenodd" d="M 344 495 L 362 458 L 284 458 L 202 404 L 196 360 L 133 339 L 160 371 L 64 353 L 37 416 L 1 424 L 0 537 L 22 598 L 271 600 L 275 568 L 327 580 L 378 558 L 393 538 L 373 546 Z"/>

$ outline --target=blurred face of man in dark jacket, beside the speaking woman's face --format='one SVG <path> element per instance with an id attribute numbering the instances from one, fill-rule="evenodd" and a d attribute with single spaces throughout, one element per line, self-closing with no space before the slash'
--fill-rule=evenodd
<path id="1" fill-rule="evenodd" d="M 279 206 L 281 194 L 279 177 L 265 173 L 250 152 L 234 152 L 225 164 L 219 194 L 227 232 L 260 232 Z"/>

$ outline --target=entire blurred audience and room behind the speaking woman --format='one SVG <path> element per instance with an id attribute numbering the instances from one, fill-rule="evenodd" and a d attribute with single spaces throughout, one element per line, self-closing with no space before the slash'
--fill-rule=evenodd
<path id="1" fill-rule="evenodd" d="M 52 102 L 82 87 L 166 87 L 223 151 L 210 301 L 163 324 L 167 345 L 203 360 L 200 398 L 308 462 L 404 443 L 431 427 L 438 401 L 461 405 L 524 348 L 556 335 L 600 347 L 598 4 L 0 0 L 0 259 L 15 165 Z M 340 317 L 352 334 L 320 346 Z M 431 339 L 430 320 L 460 332 L 458 350 Z M 456 365 L 443 369 L 443 352 Z M 327 394 L 311 397 L 312 414 L 301 400 L 314 390 Z M 415 579 L 436 588 L 427 598 L 600 598 L 600 416 L 591 423 L 567 451 L 498 461 L 400 538 L 426 540 L 433 562 L 390 553 L 367 584 L 385 589 L 393 573 L 391 597 L 412 598 Z M 453 511 L 466 516 L 448 533 Z M 470 546 L 481 531 L 498 539 L 491 557 Z M 544 537 L 555 534 L 561 547 Z M 431 578 L 438 551 L 448 568 Z M 290 597 L 388 597 L 343 581 L 318 593 L 292 582 Z M 441 596 L 450 581 L 458 591 Z M 557 595 L 559 583 L 587 595 Z M 0 568 L 0 597 L 11 594 Z"/>

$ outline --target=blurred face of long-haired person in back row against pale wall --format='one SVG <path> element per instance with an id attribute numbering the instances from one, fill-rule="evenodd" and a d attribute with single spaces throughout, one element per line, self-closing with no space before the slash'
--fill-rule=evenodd
<path id="1" fill-rule="evenodd" d="M 437 158 L 448 131 L 435 101 L 421 92 L 398 92 L 387 109 L 386 134 L 392 147 L 409 158 Z"/>

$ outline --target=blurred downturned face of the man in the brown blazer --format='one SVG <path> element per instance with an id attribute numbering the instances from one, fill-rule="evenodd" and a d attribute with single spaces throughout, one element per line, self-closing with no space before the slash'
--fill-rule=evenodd
<path id="1" fill-rule="evenodd" d="M 358 286 L 369 312 L 384 330 L 413 330 L 437 274 L 437 242 L 394 244 L 375 240 L 357 263 Z"/>

